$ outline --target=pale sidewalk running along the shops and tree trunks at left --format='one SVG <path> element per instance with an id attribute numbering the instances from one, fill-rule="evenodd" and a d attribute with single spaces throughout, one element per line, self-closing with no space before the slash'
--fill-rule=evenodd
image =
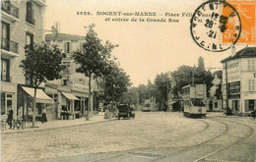
<path id="1" fill-rule="evenodd" d="M 104 114 L 102 112 L 99 112 L 97 115 L 95 115 L 93 118 L 90 118 L 89 121 L 86 121 L 85 117 L 81 117 L 79 119 L 75 120 L 53 120 L 48 121 L 46 123 L 36 122 L 35 128 L 32 128 L 32 123 L 26 123 L 26 129 L 19 129 L 15 128 L 15 130 L 9 129 L 9 126 L 6 126 L 5 131 L 1 131 L 1 134 L 13 134 L 13 133 L 25 133 L 25 132 L 36 132 L 36 131 L 42 131 L 42 130 L 51 130 L 51 129 L 59 129 L 59 128 L 65 128 L 65 127 L 72 127 L 72 126 L 81 126 L 81 125 L 88 125 L 88 124 L 95 124 L 95 123 L 101 123 L 101 122 L 108 122 L 116 120 L 116 118 L 112 119 L 104 119 Z"/>

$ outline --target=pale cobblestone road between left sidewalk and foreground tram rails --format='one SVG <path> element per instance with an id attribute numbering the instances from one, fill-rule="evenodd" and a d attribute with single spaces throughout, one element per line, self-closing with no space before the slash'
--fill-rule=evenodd
<path id="1" fill-rule="evenodd" d="M 226 127 L 226 124 L 211 118 L 214 119 L 211 116 L 190 119 L 181 113 L 137 112 L 136 118 L 130 120 L 1 135 L 1 161 L 70 161 L 67 157 L 71 156 L 80 158 L 80 161 L 91 161 L 142 149 L 153 149 L 152 153 L 166 155 L 173 151 L 167 148 L 176 147 L 177 151 L 207 140 L 210 144 L 228 143 L 249 132 L 240 125 L 229 122 Z M 235 137 L 223 135 L 226 130 Z M 134 160 L 143 161 L 130 161 Z"/>

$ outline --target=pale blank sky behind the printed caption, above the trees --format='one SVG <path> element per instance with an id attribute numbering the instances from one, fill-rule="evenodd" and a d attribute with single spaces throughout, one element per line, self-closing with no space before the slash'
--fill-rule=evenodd
<path id="1" fill-rule="evenodd" d="M 200 56 L 206 68 L 222 68 L 221 60 L 231 54 L 210 52 L 199 47 L 190 33 L 191 17 L 203 0 L 46 0 L 45 29 L 60 22 L 60 32 L 86 35 L 85 27 L 96 24 L 95 30 L 103 41 L 119 46 L 113 50 L 121 68 L 130 76 L 133 86 L 154 81 L 160 73 L 177 70 L 181 65 L 194 66 Z M 92 15 L 77 15 L 77 12 Z M 96 16 L 96 12 L 156 12 L 150 16 Z M 179 13 L 178 18 L 164 17 Z M 106 19 L 137 19 L 137 22 L 107 22 Z M 145 22 L 138 22 L 139 18 Z M 147 22 L 147 19 L 178 19 L 179 23 Z M 236 50 L 244 46 L 236 46 Z"/>

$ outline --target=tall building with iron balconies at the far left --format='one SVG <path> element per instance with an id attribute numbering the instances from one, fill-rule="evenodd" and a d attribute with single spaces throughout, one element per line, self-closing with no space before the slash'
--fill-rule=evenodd
<path id="1" fill-rule="evenodd" d="M 32 88 L 19 67 L 25 58 L 24 47 L 42 41 L 45 0 L 1 1 L 1 116 L 6 118 L 13 107 L 14 118 L 24 116 L 30 94 L 23 87 Z M 27 98 L 20 95 L 25 92 Z M 39 90 L 42 91 L 42 90 Z M 43 93 L 43 91 L 42 91 Z M 39 97 L 39 95 L 38 95 Z"/>

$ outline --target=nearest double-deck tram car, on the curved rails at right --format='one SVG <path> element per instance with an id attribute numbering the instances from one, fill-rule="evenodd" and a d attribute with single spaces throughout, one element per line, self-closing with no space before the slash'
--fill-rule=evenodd
<path id="1" fill-rule="evenodd" d="M 206 84 L 189 84 L 182 87 L 183 114 L 186 117 L 207 115 Z"/>

